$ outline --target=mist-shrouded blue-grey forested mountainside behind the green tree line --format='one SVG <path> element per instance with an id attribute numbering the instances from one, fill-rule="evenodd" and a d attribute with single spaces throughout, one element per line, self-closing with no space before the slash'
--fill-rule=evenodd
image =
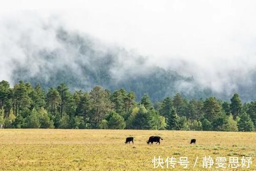
<path id="1" fill-rule="evenodd" d="M 254 70 L 245 69 L 242 77 L 241 68 L 220 70 L 216 74 L 220 78 L 212 77 L 211 82 L 204 82 L 211 75 L 199 78 L 194 74 L 202 75 L 203 71 L 195 62 L 182 58 L 166 61 L 159 58 L 165 63 L 161 66 L 152 62 L 151 56 L 108 44 L 61 24 L 40 19 L 32 20 L 31 25 L 16 20 L 2 23 L 0 79 L 11 85 L 24 80 L 32 86 L 39 83 L 47 91 L 65 82 L 73 92 L 90 91 L 99 85 L 112 92 L 120 88 L 134 91 L 137 100 L 148 94 L 154 102 L 176 93 L 188 99 L 215 96 L 229 100 L 234 93 L 239 93 L 244 102 L 256 98 Z M 184 70 L 188 72 L 184 74 Z"/>

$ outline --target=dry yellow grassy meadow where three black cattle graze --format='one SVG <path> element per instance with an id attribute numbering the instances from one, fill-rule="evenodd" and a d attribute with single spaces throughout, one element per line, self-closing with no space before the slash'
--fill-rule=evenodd
<path id="1" fill-rule="evenodd" d="M 163 138 L 160 145 L 146 144 L 152 135 Z M 135 143 L 125 144 L 127 136 L 134 136 Z M 2 129 L 0 137 L 0 170 L 166 170 L 165 165 L 154 168 L 154 156 L 188 157 L 187 169 L 177 163 L 169 170 L 203 170 L 204 156 L 250 156 L 250 168 L 238 170 L 256 170 L 256 133 Z M 197 143 L 189 144 L 191 138 Z M 214 165 L 211 170 L 232 169 Z"/>

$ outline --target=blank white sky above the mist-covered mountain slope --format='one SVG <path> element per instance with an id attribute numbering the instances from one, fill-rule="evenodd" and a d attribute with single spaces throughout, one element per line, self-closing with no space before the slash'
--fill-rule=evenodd
<path id="1" fill-rule="evenodd" d="M 233 80 L 246 82 L 256 69 L 255 9 L 256 1 L 9 0 L 1 2 L 0 21 L 23 22 L 27 10 L 56 17 L 71 30 L 135 50 L 221 91 L 236 88 Z"/>

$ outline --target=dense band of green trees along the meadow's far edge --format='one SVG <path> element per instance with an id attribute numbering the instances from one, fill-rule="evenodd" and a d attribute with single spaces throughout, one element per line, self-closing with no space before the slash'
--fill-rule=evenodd
<path id="1" fill-rule="evenodd" d="M 72 93 L 65 83 L 47 92 L 19 81 L 10 88 L 0 82 L 0 123 L 5 128 L 142 129 L 196 131 L 255 131 L 256 101 L 242 103 L 215 97 L 183 98 L 177 93 L 155 103 L 144 94 L 123 88 L 111 92 L 100 86 Z"/>

